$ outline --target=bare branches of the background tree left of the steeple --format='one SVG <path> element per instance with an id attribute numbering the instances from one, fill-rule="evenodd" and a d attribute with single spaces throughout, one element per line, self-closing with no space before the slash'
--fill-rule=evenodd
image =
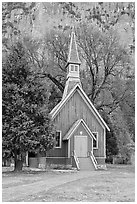
<path id="1" fill-rule="evenodd" d="M 48 78 L 62 93 L 66 79 L 69 33 L 50 30 L 43 40 L 24 39 L 30 63 L 36 67 L 37 74 L 41 78 Z"/>

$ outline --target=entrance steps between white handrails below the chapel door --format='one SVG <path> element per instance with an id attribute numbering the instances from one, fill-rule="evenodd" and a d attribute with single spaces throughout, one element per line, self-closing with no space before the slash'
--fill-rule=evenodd
<path id="1" fill-rule="evenodd" d="M 80 170 L 94 171 L 95 167 L 90 157 L 78 157 Z"/>

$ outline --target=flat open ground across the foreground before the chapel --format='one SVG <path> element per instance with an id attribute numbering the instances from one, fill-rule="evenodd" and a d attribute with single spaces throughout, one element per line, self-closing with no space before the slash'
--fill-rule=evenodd
<path id="1" fill-rule="evenodd" d="M 3 202 L 134 202 L 131 165 L 109 165 L 100 171 L 3 172 Z"/>

